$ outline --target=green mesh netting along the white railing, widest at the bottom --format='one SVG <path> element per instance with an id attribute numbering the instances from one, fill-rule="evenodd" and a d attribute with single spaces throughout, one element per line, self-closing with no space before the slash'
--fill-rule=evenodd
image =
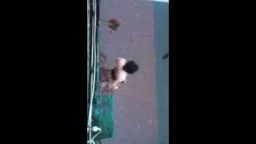
<path id="1" fill-rule="evenodd" d="M 93 10 L 94 0 L 89 0 L 90 6 L 88 7 L 90 10 Z M 99 2 L 97 0 L 97 13 L 99 16 Z M 89 10 L 89 11 L 90 11 Z M 89 17 L 87 18 L 87 30 L 91 32 L 93 29 L 92 27 L 92 15 L 93 13 L 89 13 Z M 97 16 L 97 18 L 99 18 Z M 95 82 L 95 94 L 94 94 L 94 102 L 93 102 L 93 114 L 92 114 L 92 126 L 98 126 L 102 129 L 102 133 L 98 135 L 97 138 L 95 138 L 96 142 L 103 139 L 103 138 L 113 138 L 114 136 L 114 95 L 102 95 L 99 93 L 99 44 L 98 44 L 98 19 L 97 19 L 97 26 L 96 26 L 96 56 L 97 56 L 97 62 L 96 62 L 96 71 L 94 73 L 96 74 L 96 82 Z M 91 33 L 87 34 L 87 41 L 88 44 L 92 43 Z M 91 46 L 91 45 L 90 45 Z M 90 74 L 92 72 L 90 68 L 90 50 L 91 47 L 87 46 L 87 79 L 90 79 Z M 87 81 L 87 86 L 89 86 L 89 81 Z M 90 86 L 87 87 L 87 91 L 90 91 Z M 90 94 L 87 94 L 87 118 L 89 113 L 89 107 L 90 107 Z M 93 134 L 94 135 L 94 134 Z M 88 136 L 88 134 L 87 134 Z"/>

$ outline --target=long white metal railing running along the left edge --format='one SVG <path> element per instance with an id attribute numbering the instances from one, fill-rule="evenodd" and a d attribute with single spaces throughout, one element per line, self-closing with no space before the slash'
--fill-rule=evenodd
<path id="1" fill-rule="evenodd" d="M 92 111 L 95 91 L 97 90 L 98 78 L 98 49 L 97 49 L 97 0 L 87 0 L 87 143 L 94 144 Z"/>

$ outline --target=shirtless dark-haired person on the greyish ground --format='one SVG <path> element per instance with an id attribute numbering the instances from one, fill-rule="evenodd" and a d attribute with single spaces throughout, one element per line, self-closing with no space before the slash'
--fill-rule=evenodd
<path id="1" fill-rule="evenodd" d="M 126 82 L 127 75 L 134 74 L 137 70 L 138 65 L 134 61 L 126 62 L 125 58 L 117 58 L 114 69 L 110 70 L 110 76 L 102 82 L 101 87 L 112 92 L 118 90 L 120 84 Z"/>

